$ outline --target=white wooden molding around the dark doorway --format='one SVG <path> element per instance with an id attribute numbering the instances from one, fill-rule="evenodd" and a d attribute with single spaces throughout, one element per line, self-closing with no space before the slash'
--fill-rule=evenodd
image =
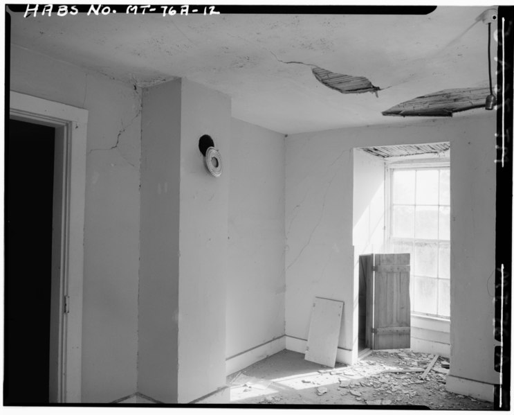
<path id="1" fill-rule="evenodd" d="M 10 91 L 10 118 L 64 132 L 61 292 L 69 312 L 61 313 L 58 402 L 82 400 L 82 284 L 88 111 Z"/>

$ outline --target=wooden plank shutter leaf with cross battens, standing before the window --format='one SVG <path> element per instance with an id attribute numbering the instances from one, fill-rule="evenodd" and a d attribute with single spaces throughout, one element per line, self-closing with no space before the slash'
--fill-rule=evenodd
<path id="1" fill-rule="evenodd" d="M 373 348 L 410 348 L 410 254 L 374 258 Z"/>

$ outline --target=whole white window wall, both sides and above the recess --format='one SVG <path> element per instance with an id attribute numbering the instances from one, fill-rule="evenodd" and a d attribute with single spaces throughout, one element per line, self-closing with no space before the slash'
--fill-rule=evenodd
<path id="1" fill-rule="evenodd" d="M 286 335 L 305 339 L 314 296 L 345 301 L 341 348 L 356 345 L 351 148 L 450 141 L 452 373 L 493 382 L 495 114 L 295 134 L 286 139 Z M 490 279 L 493 281 L 493 279 Z M 356 348 L 354 348 L 355 350 Z"/>

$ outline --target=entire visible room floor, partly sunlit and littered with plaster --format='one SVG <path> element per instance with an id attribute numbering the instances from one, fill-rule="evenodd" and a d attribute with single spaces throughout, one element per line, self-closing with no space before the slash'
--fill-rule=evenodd
<path id="1" fill-rule="evenodd" d="M 332 369 L 284 350 L 229 376 L 230 403 L 493 409 L 492 403 L 446 391 L 444 357 L 422 379 L 436 356 L 410 349 L 372 351 L 354 365 L 338 363 Z"/>

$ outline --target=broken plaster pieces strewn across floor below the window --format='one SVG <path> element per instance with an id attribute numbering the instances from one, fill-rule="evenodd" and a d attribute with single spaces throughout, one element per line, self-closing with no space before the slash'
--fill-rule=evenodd
<path id="1" fill-rule="evenodd" d="M 431 366 L 432 364 L 432 366 Z M 423 405 L 430 409 L 493 409 L 492 403 L 446 391 L 449 362 L 435 355 L 374 351 L 358 363 L 273 382 L 248 403 L 289 405 Z M 248 389 L 247 389 L 248 390 Z M 246 400 L 245 400 L 246 402 Z"/>

